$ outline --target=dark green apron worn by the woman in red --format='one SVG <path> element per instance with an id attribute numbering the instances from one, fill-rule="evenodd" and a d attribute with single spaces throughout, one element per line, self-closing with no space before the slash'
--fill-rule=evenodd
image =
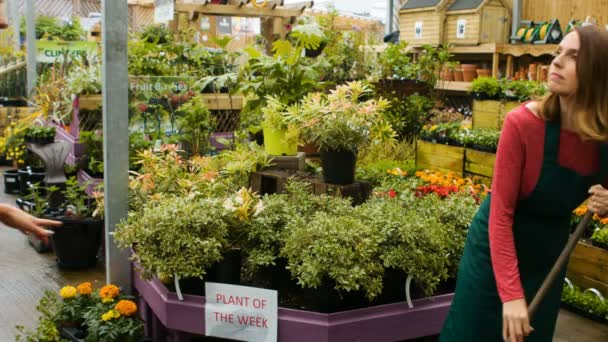
<path id="1" fill-rule="evenodd" d="M 572 211 L 587 198 L 593 184 L 603 184 L 608 160 L 601 147 L 600 172 L 583 177 L 558 164 L 559 122 L 547 122 L 543 164 L 536 187 L 517 203 L 513 233 L 520 278 L 530 303 L 570 234 Z M 595 182 L 594 182 L 595 181 Z M 488 220 L 491 196 L 481 204 L 467 235 L 460 261 L 456 292 L 440 341 L 502 341 L 502 302 L 498 296 L 490 258 Z M 526 341 L 550 342 L 560 308 L 566 268 L 547 293 L 531 325 Z"/>

